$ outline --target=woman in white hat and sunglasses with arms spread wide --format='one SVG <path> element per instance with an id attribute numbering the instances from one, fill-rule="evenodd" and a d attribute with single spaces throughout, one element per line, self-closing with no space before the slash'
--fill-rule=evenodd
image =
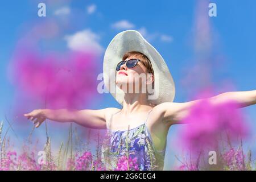
<path id="1" fill-rule="evenodd" d="M 122 109 L 38 109 L 24 116 L 36 127 L 50 119 L 106 129 L 102 144 L 102 163 L 106 169 L 115 168 L 121 156 L 129 156 L 137 159 L 140 170 L 162 170 L 170 126 L 180 123 L 189 107 L 200 100 L 172 102 L 175 85 L 166 63 L 134 30 L 123 31 L 110 42 L 104 56 L 104 82 Z M 146 92 L 142 92 L 145 87 Z M 209 98 L 213 104 L 228 100 L 237 101 L 241 107 L 256 104 L 256 90 L 226 92 Z"/>

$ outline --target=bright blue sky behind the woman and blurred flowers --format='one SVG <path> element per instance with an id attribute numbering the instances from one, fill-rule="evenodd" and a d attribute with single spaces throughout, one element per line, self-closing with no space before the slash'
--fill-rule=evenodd
<path id="1" fill-rule="evenodd" d="M 38 3 L 46 3 L 46 17 L 38 17 Z M 14 86 L 7 78 L 7 66 L 17 41 L 30 30 L 34 24 L 40 24 L 47 19 L 56 20 L 61 27 L 61 33 L 50 42 L 52 46 L 44 47 L 47 51 L 53 49 L 76 49 L 68 45 L 65 36 L 74 36 L 77 32 L 89 30 L 96 38 L 93 41 L 100 47 L 101 60 L 99 70 L 102 70 L 104 50 L 110 40 L 120 31 L 135 29 L 141 31 L 166 60 L 176 84 L 175 102 L 187 101 L 188 88 L 181 81 L 184 68 L 193 67 L 197 54 L 193 47 L 195 38 L 195 19 L 200 1 L 5 1 L 0 6 L 0 120 L 4 114 L 10 113 L 15 105 Z M 222 67 L 212 70 L 213 82 L 229 78 L 236 85 L 236 90 L 254 90 L 256 85 L 256 2 L 250 1 L 211 1 L 217 5 L 217 17 L 208 17 L 210 24 L 209 39 L 213 42 L 209 60 L 222 57 Z M 208 12 L 208 7 L 205 7 Z M 208 16 L 205 14 L 205 16 Z M 68 25 L 68 26 L 67 26 Z M 235 91 L 235 90 L 230 90 Z M 91 109 L 104 107 L 119 107 L 110 94 L 95 98 Z M 256 106 L 245 110 L 253 129 L 256 129 Z M 31 126 L 28 126 L 30 129 Z M 176 129 L 170 129 L 168 140 L 175 138 Z M 14 126 L 15 128 L 15 126 Z M 61 128 L 63 129 L 63 128 Z M 16 128 L 17 133 L 19 129 Z M 36 136 L 43 133 L 38 129 Z M 67 135 L 68 129 L 58 130 Z M 51 129 L 50 129 L 51 133 Z M 12 135 L 13 133 L 10 133 Z M 24 133 L 22 133 L 24 134 Z M 254 132 L 255 134 L 255 132 Z M 24 134 L 26 135 L 26 133 Z M 57 138 L 57 137 L 56 137 Z M 56 139 L 59 142 L 59 139 Z M 174 160 L 172 146 L 167 147 L 167 158 Z M 166 168 L 172 166 L 168 164 Z"/>

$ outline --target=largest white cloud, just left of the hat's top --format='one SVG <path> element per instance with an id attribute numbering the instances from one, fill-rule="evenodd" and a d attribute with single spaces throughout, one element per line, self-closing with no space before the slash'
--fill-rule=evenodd
<path id="1" fill-rule="evenodd" d="M 68 48 L 73 51 L 102 53 L 104 48 L 100 45 L 100 36 L 89 29 L 76 32 L 73 35 L 64 37 L 67 40 Z"/>

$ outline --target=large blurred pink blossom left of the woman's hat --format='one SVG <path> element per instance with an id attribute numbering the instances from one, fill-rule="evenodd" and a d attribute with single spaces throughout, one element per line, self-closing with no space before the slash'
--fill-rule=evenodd
<path id="1" fill-rule="evenodd" d="M 16 55 L 12 75 L 19 94 L 53 108 L 88 103 L 97 88 L 96 56 L 72 52 L 64 57 L 68 60 L 26 51 Z"/>

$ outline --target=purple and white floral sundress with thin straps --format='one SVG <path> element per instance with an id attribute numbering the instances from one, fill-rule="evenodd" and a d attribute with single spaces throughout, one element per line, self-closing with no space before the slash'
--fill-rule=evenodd
<path id="1" fill-rule="evenodd" d="M 148 112 L 148 115 L 151 111 L 152 109 Z M 142 125 L 125 131 L 112 131 L 107 126 L 101 147 L 101 160 L 106 170 L 117 169 L 118 160 L 122 156 L 135 159 L 138 170 L 163 170 L 166 144 L 162 151 L 155 150 L 150 132 L 146 126 L 147 119 Z M 133 169 L 131 168 L 131 170 Z"/>

